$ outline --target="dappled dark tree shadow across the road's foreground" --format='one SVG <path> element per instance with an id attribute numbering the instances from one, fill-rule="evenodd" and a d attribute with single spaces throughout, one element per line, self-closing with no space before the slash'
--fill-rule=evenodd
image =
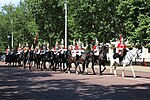
<path id="1" fill-rule="evenodd" d="M 0 100 L 150 100 L 150 84 L 102 86 L 50 79 L 48 72 L 0 69 Z"/>

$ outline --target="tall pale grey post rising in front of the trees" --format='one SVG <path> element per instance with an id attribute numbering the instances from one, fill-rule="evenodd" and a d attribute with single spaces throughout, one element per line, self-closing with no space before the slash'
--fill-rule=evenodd
<path id="1" fill-rule="evenodd" d="M 64 7 L 65 7 L 65 47 L 67 48 L 68 50 L 68 37 L 67 37 L 67 2 L 65 1 L 65 4 L 64 4 Z"/>

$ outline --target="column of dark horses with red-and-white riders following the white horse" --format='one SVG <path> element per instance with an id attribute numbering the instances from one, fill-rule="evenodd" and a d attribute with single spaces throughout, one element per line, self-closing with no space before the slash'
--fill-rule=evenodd
<path id="1" fill-rule="evenodd" d="M 17 50 L 9 48 L 6 54 L 6 64 L 9 66 L 23 66 L 29 69 L 41 69 L 61 72 L 71 72 L 72 65 L 74 64 L 75 72 L 77 74 L 88 74 L 87 68 L 91 63 L 93 74 L 95 73 L 94 66 L 99 65 L 102 74 L 106 69 L 105 63 L 107 61 L 106 53 L 107 46 L 100 45 L 95 41 L 95 45 L 81 43 L 81 41 L 73 41 L 72 45 L 68 46 L 68 50 L 64 47 L 63 39 L 59 45 L 56 41 L 54 48 L 50 49 L 49 44 L 45 42 L 41 46 L 40 43 L 34 48 L 33 45 L 29 47 L 26 44 L 22 47 L 19 44 Z M 103 70 L 101 65 L 104 66 Z"/>

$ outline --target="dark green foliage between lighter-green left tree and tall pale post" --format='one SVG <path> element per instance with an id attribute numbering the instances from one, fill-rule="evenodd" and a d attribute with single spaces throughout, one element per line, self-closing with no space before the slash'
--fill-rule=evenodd
<path id="1" fill-rule="evenodd" d="M 52 39 L 53 44 L 57 39 L 64 38 L 64 11 L 59 0 L 32 0 L 29 3 L 40 38 Z"/>

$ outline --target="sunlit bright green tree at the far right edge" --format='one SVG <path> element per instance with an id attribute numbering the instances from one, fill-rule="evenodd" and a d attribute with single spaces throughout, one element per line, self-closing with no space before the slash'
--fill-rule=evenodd
<path id="1" fill-rule="evenodd" d="M 131 42 L 134 44 L 139 42 L 140 45 L 150 42 L 150 1 L 122 0 L 117 12 L 120 18 L 124 19 L 127 37 Z"/>

